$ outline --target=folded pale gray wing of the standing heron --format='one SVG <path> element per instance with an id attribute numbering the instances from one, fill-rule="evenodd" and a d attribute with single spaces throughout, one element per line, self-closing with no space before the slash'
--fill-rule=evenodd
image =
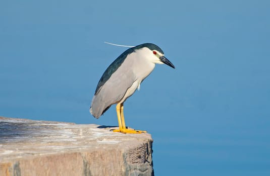
<path id="1" fill-rule="evenodd" d="M 110 69 L 112 65 L 113 63 L 106 69 L 106 71 Z M 133 59 L 129 59 L 128 61 L 123 60 L 112 75 L 110 75 L 106 81 L 103 81 L 101 85 L 100 81 L 104 80 L 102 77 L 106 71 L 103 73 L 90 107 L 90 113 L 95 118 L 99 118 L 107 109 L 110 108 L 111 105 L 122 100 L 127 89 L 136 80 L 132 65 Z"/>

